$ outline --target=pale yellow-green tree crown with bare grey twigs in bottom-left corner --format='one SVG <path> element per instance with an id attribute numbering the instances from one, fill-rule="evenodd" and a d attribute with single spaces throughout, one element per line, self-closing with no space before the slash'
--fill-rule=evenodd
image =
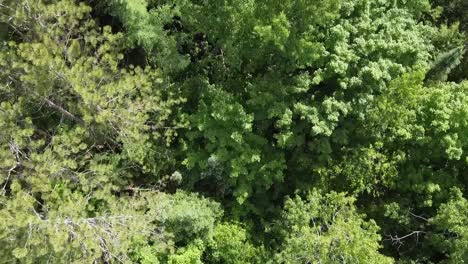
<path id="1" fill-rule="evenodd" d="M 54 197 L 41 204 L 13 184 L 18 185 L 15 193 L 8 200 L 2 197 L 7 203 L 0 210 L 5 220 L 0 227 L 2 263 L 92 263 L 101 258 L 129 263 L 132 244 L 145 242 L 154 232 L 150 218 L 131 200 L 108 198 L 108 210 L 91 209 L 105 191 L 85 196 L 57 187 Z"/>

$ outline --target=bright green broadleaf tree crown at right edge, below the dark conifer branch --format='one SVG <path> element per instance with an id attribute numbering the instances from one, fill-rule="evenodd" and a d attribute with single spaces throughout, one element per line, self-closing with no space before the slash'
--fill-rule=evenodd
<path id="1" fill-rule="evenodd" d="M 364 130 L 358 131 L 363 133 L 358 137 L 374 137 L 375 143 L 343 149 L 343 160 L 319 171 L 326 183 L 374 194 L 379 187 L 411 190 L 424 194 L 430 205 L 437 190 L 464 181 L 466 82 L 424 86 L 423 79 L 424 71 L 405 75 L 375 98 L 363 115 Z"/>

